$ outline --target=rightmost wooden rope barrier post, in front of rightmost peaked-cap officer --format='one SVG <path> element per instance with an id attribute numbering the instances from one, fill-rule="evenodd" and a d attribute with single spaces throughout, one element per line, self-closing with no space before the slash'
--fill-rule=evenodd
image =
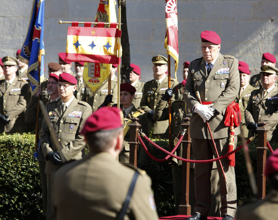
<path id="1" fill-rule="evenodd" d="M 258 147 L 257 149 L 257 187 L 258 187 L 258 198 L 265 198 L 265 186 L 266 186 L 266 178 L 263 174 L 266 165 L 266 153 L 267 153 L 267 132 L 269 129 L 265 127 L 267 123 L 259 122 L 259 127 L 256 129 L 258 132 Z"/>

